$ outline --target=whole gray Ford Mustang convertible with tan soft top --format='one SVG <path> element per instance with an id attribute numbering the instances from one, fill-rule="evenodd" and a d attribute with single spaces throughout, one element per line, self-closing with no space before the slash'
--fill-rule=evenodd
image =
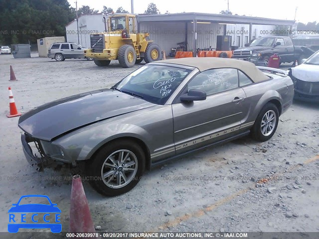
<path id="1" fill-rule="evenodd" d="M 235 59 L 172 59 L 146 64 L 111 89 L 40 106 L 21 116 L 19 127 L 37 170 L 85 160 L 92 186 L 115 196 L 164 160 L 249 133 L 270 139 L 293 97 L 281 70 Z"/>

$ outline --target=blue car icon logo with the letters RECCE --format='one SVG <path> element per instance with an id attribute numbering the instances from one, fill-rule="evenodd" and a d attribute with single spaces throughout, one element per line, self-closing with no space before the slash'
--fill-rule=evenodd
<path id="1" fill-rule="evenodd" d="M 23 198 L 44 198 L 49 202 L 48 204 L 20 204 Z M 24 195 L 21 196 L 19 201 L 12 204 L 8 210 L 9 223 L 8 232 L 17 233 L 20 228 L 27 229 L 47 229 L 49 228 L 52 233 L 60 233 L 62 231 L 62 224 L 60 223 L 61 210 L 57 207 L 57 204 L 53 204 L 50 198 L 46 195 Z M 26 223 L 27 214 L 32 214 L 32 223 Z M 19 215 L 21 214 L 21 215 Z M 39 214 L 43 214 L 40 216 Z M 20 217 L 19 217 L 20 216 Z M 54 222 L 49 217 L 54 216 Z M 18 221 L 20 220 L 20 223 Z"/>

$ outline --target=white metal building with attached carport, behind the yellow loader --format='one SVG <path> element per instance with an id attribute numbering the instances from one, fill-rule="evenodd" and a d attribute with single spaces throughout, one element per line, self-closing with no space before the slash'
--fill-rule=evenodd
<path id="1" fill-rule="evenodd" d="M 251 39 L 272 35 L 275 25 L 292 26 L 294 20 L 280 20 L 262 17 L 209 14 L 172 13 L 137 16 L 138 31 L 149 32 L 150 40 L 160 45 L 166 54 L 178 42 L 186 42 L 187 50 L 216 48 L 217 35 L 231 35 L 231 45 L 243 47 Z M 67 41 L 77 42 L 76 20 L 66 26 Z M 86 30 L 86 33 L 83 30 Z M 90 47 L 90 31 L 105 30 L 102 13 L 79 17 L 80 44 Z"/>

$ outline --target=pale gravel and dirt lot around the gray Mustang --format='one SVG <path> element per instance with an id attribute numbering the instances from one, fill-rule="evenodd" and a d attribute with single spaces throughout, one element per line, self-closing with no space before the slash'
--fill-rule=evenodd
<path id="1" fill-rule="evenodd" d="M 8 81 L 9 65 L 16 82 Z M 7 210 L 26 194 L 49 196 L 62 211 L 62 231 L 68 231 L 75 171 L 38 173 L 29 166 L 18 118 L 5 117 L 7 87 L 25 113 L 62 97 L 110 87 L 140 66 L 123 69 L 112 62 L 99 68 L 86 60 L 0 55 L 1 232 L 7 231 Z M 86 181 L 83 185 L 100 232 L 319 232 L 318 146 L 318 105 L 295 102 L 270 141 L 246 137 L 197 152 L 146 172 L 136 188 L 114 198 L 99 195 Z M 256 183 L 262 178 L 270 179 Z"/>

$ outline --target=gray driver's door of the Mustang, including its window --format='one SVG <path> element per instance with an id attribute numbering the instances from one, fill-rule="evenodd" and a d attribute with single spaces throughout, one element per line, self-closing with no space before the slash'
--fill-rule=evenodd
<path id="1" fill-rule="evenodd" d="M 248 114 L 245 92 L 238 87 L 237 69 L 219 68 L 201 72 L 186 85 L 206 92 L 203 101 L 172 104 L 176 153 L 234 136 Z"/>

